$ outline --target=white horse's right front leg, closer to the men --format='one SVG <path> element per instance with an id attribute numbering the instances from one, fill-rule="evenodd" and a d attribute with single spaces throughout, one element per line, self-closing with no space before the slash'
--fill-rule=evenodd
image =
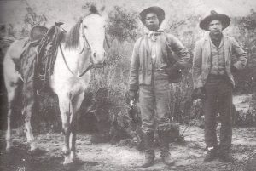
<path id="1" fill-rule="evenodd" d="M 72 106 L 73 106 L 73 116 L 71 117 L 70 123 L 71 123 L 71 134 L 70 134 L 70 157 L 72 160 L 76 157 L 76 134 L 77 134 L 77 117 L 79 108 L 82 104 L 82 101 L 84 100 L 84 91 L 81 91 L 81 93 L 77 94 L 72 100 Z"/>

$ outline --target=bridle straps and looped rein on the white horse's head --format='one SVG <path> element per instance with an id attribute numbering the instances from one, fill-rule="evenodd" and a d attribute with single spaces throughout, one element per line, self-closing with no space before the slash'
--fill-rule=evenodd
<path id="1" fill-rule="evenodd" d="M 82 24 L 82 22 L 83 22 L 83 20 L 80 20 L 80 24 Z M 84 48 L 85 48 L 85 43 L 86 43 L 86 48 L 89 50 L 89 51 L 91 51 L 91 47 L 90 47 L 90 43 L 88 42 L 88 39 L 87 39 L 87 37 L 85 36 L 85 34 L 84 34 L 84 26 L 82 26 L 82 32 L 83 32 L 83 48 L 82 48 L 82 50 L 81 50 L 81 52 L 79 52 L 79 54 L 83 54 L 83 52 L 84 52 Z M 105 36 L 105 38 L 106 38 L 106 36 Z M 108 40 L 107 40 L 108 41 Z M 107 43 L 108 44 L 108 43 Z M 60 46 L 60 49 L 61 49 L 61 56 L 62 56 L 62 58 L 63 58 L 63 60 L 64 60 L 64 63 L 65 63 L 65 65 L 67 66 L 67 70 L 68 71 L 70 71 L 74 76 L 77 76 L 77 74 L 75 74 L 71 69 L 70 69 L 70 67 L 68 66 L 68 64 L 67 64 L 67 60 L 66 60 L 66 57 L 65 57 L 65 55 L 64 55 L 64 53 L 63 53 L 63 50 L 62 50 L 62 48 L 61 48 L 61 43 L 59 43 L 59 46 Z M 108 48 L 109 48 L 109 44 L 108 44 Z M 91 60 L 91 53 L 90 53 L 90 60 Z M 87 71 L 89 71 L 90 69 L 92 69 L 92 68 L 94 68 L 94 64 L 93 63 L 91 63 L 90 62 L 90 64 L 89 64 L 89 66 L 81 73 L 81 74 L 79 74 L 78 75 L 78 77 L 82 77 L 82 76 L 84 76 L 84 74 L 87 72 Z"/>

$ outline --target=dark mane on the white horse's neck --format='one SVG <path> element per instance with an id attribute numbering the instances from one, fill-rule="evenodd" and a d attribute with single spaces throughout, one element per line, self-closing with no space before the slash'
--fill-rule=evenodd
<path id="1" fill-rule="evenodd" d="M 77 22 L 75 26 L 67 32 L 65 37 L 65 48 L 77 48 L 79 46 L 79 30 L 81 21 Z"/>

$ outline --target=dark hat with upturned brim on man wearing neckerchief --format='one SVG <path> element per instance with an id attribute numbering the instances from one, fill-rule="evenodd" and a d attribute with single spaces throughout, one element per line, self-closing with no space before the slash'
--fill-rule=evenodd
<path id="1" fill-rule="evenodd" d="M 145 18 L 148 13 L 154 13 L 157 15 L 157 18 L 159 20 L 159 25 L 163 22 L 165 19 L 165 11 L 161 9 L 160 7 L 149 7 L 148 9 L 143 9 L 143 11 L 139 14 L 140 20 L 145 25 Z"/>

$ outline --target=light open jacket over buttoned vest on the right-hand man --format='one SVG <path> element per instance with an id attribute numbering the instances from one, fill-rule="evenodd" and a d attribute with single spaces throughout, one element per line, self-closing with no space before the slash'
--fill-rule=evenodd
<path id="1" fill-rule="evenodd" d="M 210 36 L 202 38 L 195 44 L 192 78 L 195 88 L 201 88 L 207 82 L 207 77 L 211 70 L 211 47 Z M 223 36 L 224 41 L 224 60 L 225 71 L 233 87 L 235 86 L 234 77 L 230 71 L 231 66 L 237 70 L 243 69 L 247 64 L 247 53 L 232 37 Z M 236 56 L 235 56 L 236 55 Z"/>

